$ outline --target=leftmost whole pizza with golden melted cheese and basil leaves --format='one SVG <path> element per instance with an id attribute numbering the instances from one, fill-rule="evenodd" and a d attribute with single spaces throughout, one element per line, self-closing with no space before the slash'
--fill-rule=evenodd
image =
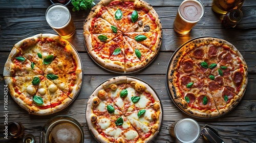
<path id="1" fill-rule="evenodd" d="M 16 43 L 4 68 L 13 100 L 31 114 L 47 115 L 67 107 L 82 83 L 82 66 L 73 46 L 53 34 Z"/>

